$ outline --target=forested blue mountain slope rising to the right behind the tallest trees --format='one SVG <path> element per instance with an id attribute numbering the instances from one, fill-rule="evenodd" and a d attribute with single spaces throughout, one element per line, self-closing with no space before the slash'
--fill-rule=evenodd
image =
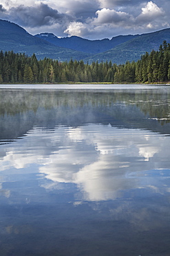
<path id="1" fill-rule="evenodd" d="M 138 35 L 138 37 L 130 39 L 123 44 L 119 44 L 109 51 L 90 56 L 85 59 L 85 61 L 91 63 L 111 60 L 111 62 L 116 64 L 123 64 L 133 60 L 137 61 L 140 59 L 141 55 L 146 52 L 151 52 L 152 50 L 158 51 L 160 44 L 162 44 L 164 40 L 170 43 L 170 28 Z"/>

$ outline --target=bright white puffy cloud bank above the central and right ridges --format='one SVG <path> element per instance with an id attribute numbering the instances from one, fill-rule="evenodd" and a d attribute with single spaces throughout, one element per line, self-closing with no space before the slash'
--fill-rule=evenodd
<path id="1" fill-rule="evenodd" d="M 96 17 L 84 21 L 74 21 L 67 26 L 64 33 L 67 35 L 78 35 L 80 37 L 91 37 L 102 39 L 114 35 L 125 35 L 128 33 L 146 33 L 169 26 L 163 8 L 149 1 L 142 3 L 138 1 L 136 8 L 131 7 L 131 1 L 123 6 L 126 1 L 99 1 L 100 6 L 111 6 L 115 8 L 100 8 L 96 10 Z M 134 3 L 135 5 L 136 3 Z M 126 7 L 126 8 L 125 8 Z M 100 37 L 101 35 L 101 37 Z"/>

